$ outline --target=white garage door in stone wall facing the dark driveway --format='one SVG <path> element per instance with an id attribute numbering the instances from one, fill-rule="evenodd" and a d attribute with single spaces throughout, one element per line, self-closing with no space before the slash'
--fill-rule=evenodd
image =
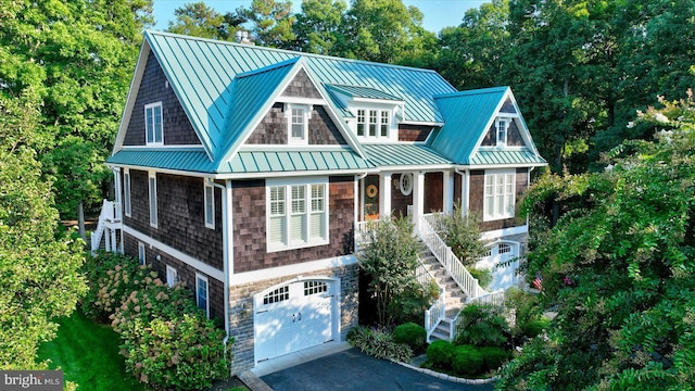
<path id="1" fill-rule="evenodd" d="M 337 329 L 337 286 L 333 280 L 295 280 L 256 294 L 256 363 L 332 340 Z"/>

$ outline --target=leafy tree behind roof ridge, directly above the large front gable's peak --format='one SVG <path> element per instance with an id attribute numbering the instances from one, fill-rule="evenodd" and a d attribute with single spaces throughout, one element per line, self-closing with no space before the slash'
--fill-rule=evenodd
<path id="1" fill-rule="evenodd" d="M 340 28 L 348 4 L 343 0 L 306 0 L 296 14 L 292 31 L 296 50 L 331 55 L 340 38 Z"/>

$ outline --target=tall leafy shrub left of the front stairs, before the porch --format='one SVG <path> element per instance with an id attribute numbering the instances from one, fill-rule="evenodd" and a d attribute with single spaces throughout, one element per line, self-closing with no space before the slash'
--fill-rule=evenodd
<path id="1" fill-rule="evenodd" d="M 370 278 L 369 292 L 376 297 L 379 324 L 394 318 L 393 304 L 417 286 L 417 240 L 407 217 L 370 224 L 364 250 L 357 255 L 359 267 Z"/>

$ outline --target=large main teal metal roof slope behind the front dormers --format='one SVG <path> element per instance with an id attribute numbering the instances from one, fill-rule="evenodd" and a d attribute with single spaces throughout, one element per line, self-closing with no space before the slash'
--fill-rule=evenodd
<path id="1" fill-rule="evenodd" d="M 349 85 L 402 97 L 406 106 L 406 122 L 442 122 L 443 117 L 433 97 L 455 91 L 441 75 L 429 70 L 152 30 L 146 31 L 144 39 L 164 70 L 203 146 L 216 159 L 227 152 L 219 151 L 225 149 L 223 146 L 229 146 L 229 140 L 224 135 L 235 134 L 227 124 L 235 121 L 229 116 L 230 105 L 239 99 L 247 98 L 239 93 L 232 79 L 239 74 L 298 56 L 306 60 L 307 71 L 316 78 L 317 88 L 324 89 L 324 92 L 326 85 Z M 257 97 L 252 99 L 255 100 Z M 341 113 L 341 110 L 337 112 Z"/>

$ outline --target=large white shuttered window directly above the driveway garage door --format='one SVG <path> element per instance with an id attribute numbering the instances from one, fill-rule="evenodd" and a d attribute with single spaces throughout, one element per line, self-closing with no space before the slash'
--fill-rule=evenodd
<path id="1" fill-rule="evenodd" d="M 328 184 L 268 181 L 267 248 L 281 251 L 328 243 Z"/>

